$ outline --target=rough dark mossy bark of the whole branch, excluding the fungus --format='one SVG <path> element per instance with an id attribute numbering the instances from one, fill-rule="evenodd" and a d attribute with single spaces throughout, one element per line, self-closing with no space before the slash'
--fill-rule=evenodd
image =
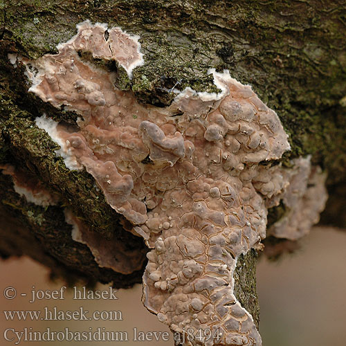
<path id="1" fill-rule="evenodd" d="M 27 203 L 10 177 L 0 175 L 3 257 L 26 253 L 56 275 L 113 280 L 118 287 L 141 281 L 143 271 L 122 275 L 99 268 L 89 249 L 72 241 L 64 206 L 95 232 L 125 242 L 128 251 L 145 249 L 122 228 L 93 178 L 67 170 L 53 152 L 55 143 L 34 123 L 42 113 L 71 123 L 76 115 L 28 93 L 24 66 L 15 69 L 8 60 L 8 53 L 37 58 L 56 52 L 57 43 L 75 35 L 75 24 L 85 19 L 140 36 L 145 64 L 131 81 L 118 68 L 117 86 L 131 89 L 142 102 L 169 104 L 173 86 L 216 91 L 210 68 L 228 69 L 251 84 L 290 135 L 292 151 L 283 159 L 312 154 L 313 163 L 329 173 L 322 221 L 346 226 L 345 1 L 1 1 L 0 163 L 33 174 L 63 201 L 48 208 Z M 258 322 L 255 257 L 252 251 L 239 260 L 235 291 Z"/>

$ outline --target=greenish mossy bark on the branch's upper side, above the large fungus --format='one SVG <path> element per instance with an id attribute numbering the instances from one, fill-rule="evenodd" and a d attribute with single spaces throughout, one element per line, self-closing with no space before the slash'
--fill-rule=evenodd
<path id="1" fill-rule="evenodd" d="M 10 51 L 56 51 L 85 19 L 140 35 L 145 65 L 131 88 L 143 102 L 169 103 L 172 87 L 215 91 L 210 67 L 229 69 L 277 110 L 292 155 L 345 176 L 346 5 L 343 1 L 2 1 Z M 120 78 L 119 85 L 128 86 Z"/>

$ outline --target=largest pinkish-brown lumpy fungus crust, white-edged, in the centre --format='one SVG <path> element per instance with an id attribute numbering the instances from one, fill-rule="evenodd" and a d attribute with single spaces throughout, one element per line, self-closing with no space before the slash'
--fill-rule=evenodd
<path id="1" fill-rule="evenodd" d="M 78 129 L 36 120 L 60 144 L 57 154 L 72 169 L 85 167 L 152 248 L 143 275 L 145 306 L 181 334 L 217 332 L 204 345 L 262 345 L 235 297 L 233 271 L 239 255 L 266 237 L 268 207 L 282 198 L 294 202 L 288 190 L 294 174 L 261 164 L 290 149 L 276 113 L 251 86 L 215 70 L 209 72 L 220 93 L 187 88 L 169 107 L 139 104 L 133 93 L 114 87 L 112 73 L 84 62 L 78 51 L 116 60 L 129 72 L 143 61 L 138 37 L 86 21 L 57 55 L 23 62 L 36 71 L 30 91 L 80 115 Z M 320 207 L 311 209 L 315 217 Z M 79 240 L 93 241 L 90 235 Z"/>

